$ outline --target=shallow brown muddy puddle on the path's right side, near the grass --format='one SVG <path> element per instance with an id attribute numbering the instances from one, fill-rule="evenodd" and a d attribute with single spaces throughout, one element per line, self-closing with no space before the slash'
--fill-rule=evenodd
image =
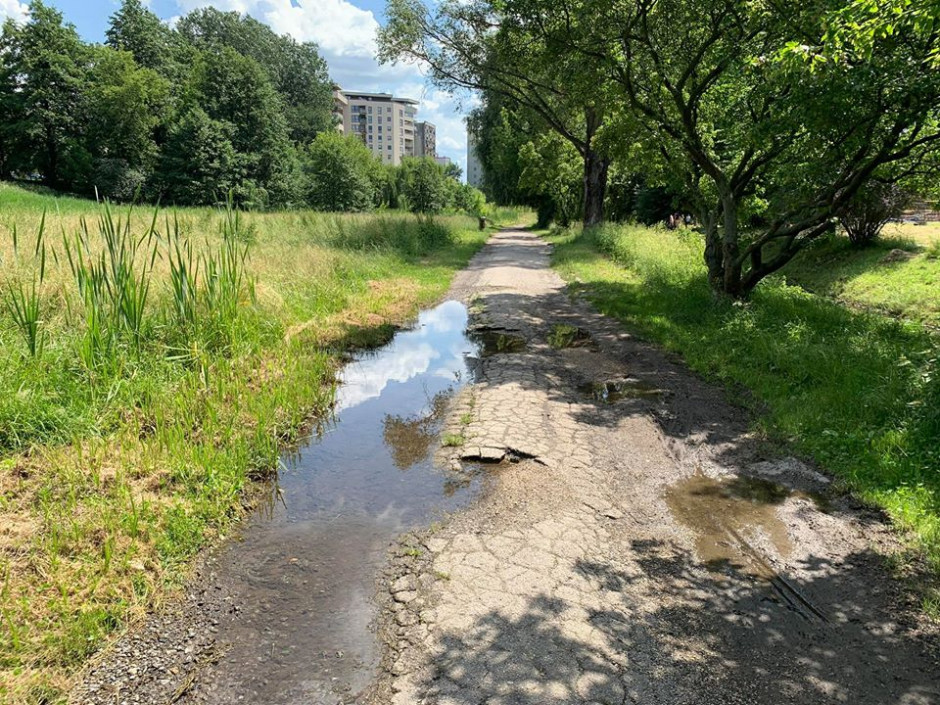
<path id="1" fill-rule="evenodd" d="M 709 569 L 732 568 L 770 580 L 776 573 L 751 541 L 769 542 L 782 558 L 793 552 L 776 509 L 790 494 L 781 485 L 756 478 L 693 475 L 667 490 L 666 504 L 695 534 L 695 552 Z"/>

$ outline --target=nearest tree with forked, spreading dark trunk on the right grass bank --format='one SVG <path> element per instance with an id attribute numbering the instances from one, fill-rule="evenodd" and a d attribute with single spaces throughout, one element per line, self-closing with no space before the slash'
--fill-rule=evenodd
<path id="1" fill-rule="evenodd" d="M 825 41 L 816 5 L 506 6 L 546 42 L 607 67 L 645 139 L 683 174 L 705 230 L 709 281 L 732 297 L 827 232 L 877 171 L 900 178 L 940 141 L 940 75 L 925 70 L 931 33 L 899 28 L 853 61 L 781 61 L 788 47 Z M 754 198 L 767 204 L 766 225 L 745 232 L 742 211 Z"/>

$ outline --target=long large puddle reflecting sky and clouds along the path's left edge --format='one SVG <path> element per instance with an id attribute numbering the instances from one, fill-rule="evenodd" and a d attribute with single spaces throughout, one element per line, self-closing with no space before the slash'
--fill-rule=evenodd
<path id="1" fill-rule="evenodd" d="M 234 616 L 197 701 L 355 702 L 368 686 L 390 544 L 465 505 L 480 482 L 433 462 L 448 399 L 478 355 L 466 326 L 464 306 L 447 302 L 347 365 L 335 420 L 283 459 L 277 501 L 219 559 Z"/>

